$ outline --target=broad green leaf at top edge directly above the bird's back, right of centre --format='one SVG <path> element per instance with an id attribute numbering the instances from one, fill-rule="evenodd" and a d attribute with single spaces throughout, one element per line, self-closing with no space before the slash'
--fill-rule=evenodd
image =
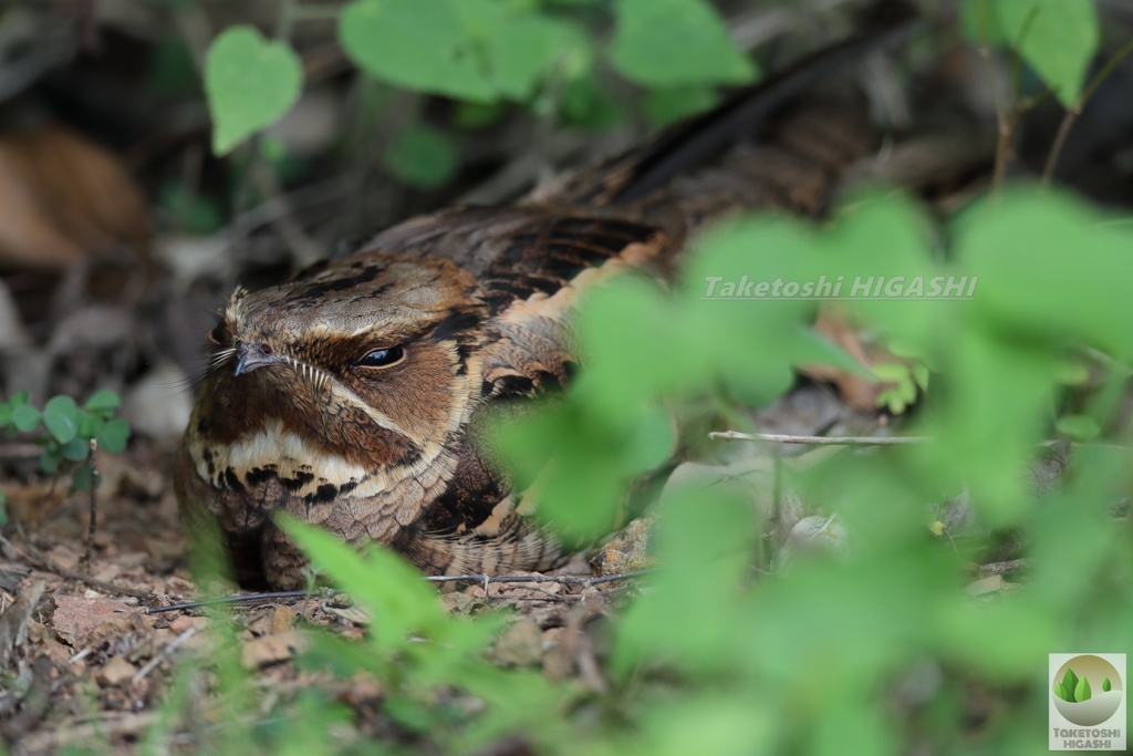
<path id="1" fill-rule="evenodd" d="M 740 84 L 756 76 L 705 0 L 617 0 L 615 15 L 611 60 L 639 84 Z"/>

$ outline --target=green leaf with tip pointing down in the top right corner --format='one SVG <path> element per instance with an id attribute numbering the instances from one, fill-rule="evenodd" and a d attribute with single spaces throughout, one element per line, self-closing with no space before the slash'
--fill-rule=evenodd
<path id="1" fill-rule="evenodd" d="M 1091 0 L 988 0 L 1010 44 L 1070 108 L 1082 93 L 1098 51 L 1100 25 Z"/>

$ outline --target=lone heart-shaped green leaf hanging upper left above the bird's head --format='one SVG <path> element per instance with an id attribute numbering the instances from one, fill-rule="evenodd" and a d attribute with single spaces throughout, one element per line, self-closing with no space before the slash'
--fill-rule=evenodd
<path id="1" fill-rule="evenodd" d="M 213 41 L 205 59 L 205 92 L 213 118 L 213 152 L 223 155 L 279 120 L 303 88 L 299 57 L 252 26 L 233 26 Z"/>

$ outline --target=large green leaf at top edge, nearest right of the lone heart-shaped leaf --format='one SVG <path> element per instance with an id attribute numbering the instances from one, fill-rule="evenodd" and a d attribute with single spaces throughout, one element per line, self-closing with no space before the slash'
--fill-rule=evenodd
<path id="1" fill-rule="evenodd" d="M 452 0 L 358 0 L 339 17 L 339 41 L 359 68 L 391 84 L 495 99 Z"/>

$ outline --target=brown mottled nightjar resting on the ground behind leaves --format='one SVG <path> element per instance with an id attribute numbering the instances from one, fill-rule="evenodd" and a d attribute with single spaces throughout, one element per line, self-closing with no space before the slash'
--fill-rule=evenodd
<path id="1" fill-rule="evenodd" d="M 478 419 L 568 381 L 581 289 L 629 269 L 667 274 L 689 235 L 729 212 L 820 213 L 876 135 L 859 99 L 807 93 L 904 26 L 518 205 L 414 218 L 296 281 L 237 289 L 178 458 L 187 519 L 215 517 L 245 585 L 303 584 L 278 511 L 429 574 L 553 567 L 563 546 L 527 517 Z"/>

